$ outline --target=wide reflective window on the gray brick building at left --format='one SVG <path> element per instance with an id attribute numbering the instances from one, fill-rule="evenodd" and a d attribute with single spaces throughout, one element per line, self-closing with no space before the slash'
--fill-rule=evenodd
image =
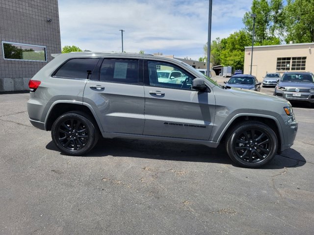
<path id="1" fill-rule="evenodd" d="M 3 57 L 7 60 L 47 61 L 46 47 L 2 42 Z"/>

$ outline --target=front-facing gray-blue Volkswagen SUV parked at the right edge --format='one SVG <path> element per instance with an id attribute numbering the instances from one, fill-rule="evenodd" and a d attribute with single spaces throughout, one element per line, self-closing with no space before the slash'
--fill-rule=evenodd
<path id="1" fill-rule="evenodd" d="M 275 88 L 274 95 L 288 100 L 314 103 L 314 75 L 312 72 L 286 72 Z"/>

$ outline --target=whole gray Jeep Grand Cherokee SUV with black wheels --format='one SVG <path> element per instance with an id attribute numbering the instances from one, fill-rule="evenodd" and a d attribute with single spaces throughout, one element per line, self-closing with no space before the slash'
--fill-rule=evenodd
<path id="1" fill-rule="evenodd" d="M 181 76 L 159 80 L 159 70 Z M 174 59 L 146 54 L 57 55 L 29 82 L 30 122 L 61 152 L 82 155 L 103 138 L 204 144 L 225 142 L 241 166 L 260 167 L 295 139 L 288 101 L 220 86 Z"/>

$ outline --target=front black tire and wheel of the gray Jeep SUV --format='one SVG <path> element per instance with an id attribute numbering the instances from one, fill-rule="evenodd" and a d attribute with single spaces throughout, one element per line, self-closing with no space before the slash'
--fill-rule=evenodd
<path id="1" fill-rule="evenodd" d="M 277 153 L 275 132 L 258 121 L 242 122 L 227 136 L 226 150 L 236 164 L 258 168 L 270 162 Z"/>

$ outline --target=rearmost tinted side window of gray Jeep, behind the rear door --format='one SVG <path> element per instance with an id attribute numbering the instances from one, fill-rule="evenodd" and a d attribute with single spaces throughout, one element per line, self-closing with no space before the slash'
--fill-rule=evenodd
<path id="1" fill-rule="evenodd" d="M 68 60 L 54 73 L 54 76 L 88 79 L 98 60 L 99 58 L 77 58 Z"/>

